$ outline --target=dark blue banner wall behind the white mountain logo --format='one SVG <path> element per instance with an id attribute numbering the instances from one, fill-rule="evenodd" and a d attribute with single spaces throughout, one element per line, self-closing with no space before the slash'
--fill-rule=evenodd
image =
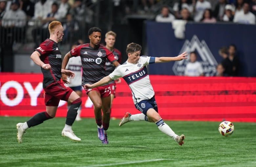
<path id="1" fill-rule="evenodd" d="M 185 38 L 178 39 L 174 35 L 171 23 L 147 21 L 146 35 L 149 56 L 174 57 L 182 52 L 196 51 L 198 61 L 203 65 L 206 76 L 216 73 L 216 66 L 222 61 L 219 49 L 235 44 L 240 59 L 240 76 L 256 77 L 256 26 L 244 24 L 202 24 L 187 23 Z M 152 64 L 150 74 L 183 75 L 189 60 Z"/>

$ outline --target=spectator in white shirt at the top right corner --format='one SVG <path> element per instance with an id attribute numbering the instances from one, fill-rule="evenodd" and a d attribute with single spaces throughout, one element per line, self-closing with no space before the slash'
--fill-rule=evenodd
<path id="1" fill-rule="evenodd" d="M 250 6 L 248 3 L 244 3 L 242 12 L 236 12 L 234 16 L 234 23 L 242 24 L 255 24 L 255 15 L 250 12 Z"/>

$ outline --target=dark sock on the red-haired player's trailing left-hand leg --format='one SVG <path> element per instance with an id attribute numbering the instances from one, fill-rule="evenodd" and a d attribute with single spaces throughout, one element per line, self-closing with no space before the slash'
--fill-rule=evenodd
<path id="1" fill-rule="evenodd" d="M 43 123 L 45 120 L 48 120 L 51 118 L 53 117 L 51 117 L 46 111 L 44 111 L 41 113 L 37 113 L 32 118 L 30 118 L 30 120 L 27 121 L 27 124 L 28 124 L 28 127 L 30 128 L 32 126 L 39 125 Z"/>

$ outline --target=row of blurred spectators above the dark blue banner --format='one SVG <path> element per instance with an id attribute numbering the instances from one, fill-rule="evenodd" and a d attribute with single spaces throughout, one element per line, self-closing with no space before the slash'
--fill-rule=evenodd
<path id="1" fill-rule="evenodd" d="M 255 16 L 256 0 L 178 0 L 172 7 L 163 6 L 156 21 L 255 24 Z"/>

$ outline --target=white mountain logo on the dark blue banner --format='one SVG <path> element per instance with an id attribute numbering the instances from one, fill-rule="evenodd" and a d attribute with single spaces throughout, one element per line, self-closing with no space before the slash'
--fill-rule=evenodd
<path id="1" fill-rule="evenodd" d="M 186 40 L 183 44 L 179 54 L 187 52 L 188 59 L 176 61 L 174 63 L 172 70 L 175 75 L 184 75 L 186 65 L 190 60 L 189 54 L 190 52 L 194 51 L 197 52 L 197 61 L 202 64 L 205 76 L 213 76 L 216 73 L 216 66 L 218 63 L 212 55 L 212 52 L 208 48 L 206 42 L 204 40 L 200 42 L 196 35 L 192 37 L 191 41 Z"/>

